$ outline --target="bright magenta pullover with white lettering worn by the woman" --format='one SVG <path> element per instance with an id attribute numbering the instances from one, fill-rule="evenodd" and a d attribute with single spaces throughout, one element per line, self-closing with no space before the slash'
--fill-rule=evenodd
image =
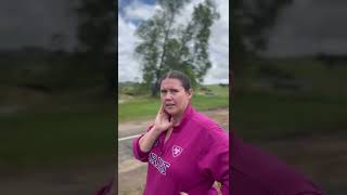
<path id="1" fill-rule="evenodd" d="M 216 195 L 215 180 L 221 183 L 223 195 L 230 194 L 229 136 L 190 104 L 166 143 L 164 132 L 152 150 L 144 153 L 140 150 L 140 138 L 133 140 L 132 148 L 137 159 L 147 162 L 144 195 L 178 195 L 179 192 Z"/>

